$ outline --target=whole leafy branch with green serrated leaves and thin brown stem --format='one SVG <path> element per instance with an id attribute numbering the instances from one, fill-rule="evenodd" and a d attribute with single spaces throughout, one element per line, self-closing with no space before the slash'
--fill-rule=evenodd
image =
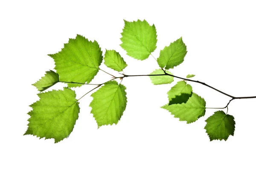
<path id="1" fill-rule="evenodd" d="M 145 20 L 125 21 L 121 34 L 122 44 L 120 46 L 127 52 L 127 55 L 137 60 L 147 59 L 151 52 L 154 52 L 157 48 L 155 26 L 150 26 Z M 188 81 L 203 84 L 229 96 L 230 101 L 256 98 L 256 96 L 231 96 L 201 81 L 190 79 L 195 76 L 192 74 L 187 75 L 186 78 L 173 75 L 168 70 L 181 64 L 186 53 L 186 45 L 182 38 L 179 38 L 162 49 L 159 57 L 155 58 L 159 69 L 148 75 L 126 75 L 123 70 L 127 67 L 127 64 L 119 52 L 106 50 L 103 58 L 102 49 L 96 41 L 89 41 L 87 38 L 77 35 L 75 39 L 70 39 L 68 43 L 65 43 L 60 52 L 49 55 L 55 61 L 56 72 L 47 71 L 39 81 L 33 84 L 41 92 L 58 82 L 67 83 L 67 87 L 64 87 L 63 90 L 52 90 L 38 94 L 39 101 L 30 105 L 32 111 L 28 113 L 30 118 L 28 119 L 29 124 L 25 135 L 31 134 L 45 139 L 53 138 L 55 143 L 68 137 L 73 131 L 79 116 L 79 100 L 96 89 L 98 90 L 91 94 L 93 100 L 90 107 L 98 127 L 117 124 L 127 103 L 126 87 L 118 83 L 117 78 L 121 79 L 122 82 L 122 79 L 126 77 L 148 76 L 155 85 L 170 84 L 174 81 L 174 78 L 182 79 L 167 92 L 169 101 L 166 101 L 162 108 L 168 110 L 175 118 L 186 121 L 188 124 L 204 116 L 207 108 L 205 100 L 192 91 L 191 85 L 187 83 Z M 106 72 L 106 74 L 113 77 L 111 80 L 101 84 L 91 84 L 95 87 L 81 98 L 76 99 L 76 93 L 71 87 L 90 84 L 94 76 L 99 71 L 103 71 L 100 69 L 103 59 L 107 67 L 122 72 L 122 76 L 116 77 Z M 228 109 L 230 101 L 225 107 L 216 109 Z M 227 112 L 218 110 L 206 119 L 205 129 L 211 141 L 214 139 L 227 140 L 230 135 L 234 135 L 235 120 Z"/>

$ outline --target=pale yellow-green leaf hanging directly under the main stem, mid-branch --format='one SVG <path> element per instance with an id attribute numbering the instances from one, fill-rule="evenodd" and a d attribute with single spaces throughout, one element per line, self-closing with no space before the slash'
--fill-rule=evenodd
<path id="1" fill-rule="evenodd" d="M 171 72 L 166 71 L 166 73 L 171 74 Z M 151 72 L 149 75 L 157 75 L 157 74 L 164 74 L 163 70 L 157 69 Z M 159 84 L 170 84 L 173 81 L 173 77 L 170 75 L 163 75 L 163 76 L 149 76 L 151 79 L 151 82 L 154 85 L 159 85 Z"/>

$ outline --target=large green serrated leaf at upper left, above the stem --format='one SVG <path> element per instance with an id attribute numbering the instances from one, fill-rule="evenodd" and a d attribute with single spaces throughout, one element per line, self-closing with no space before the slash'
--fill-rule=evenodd
<path id="1" fill-rule="evenodd" d="M 81 35 L 69 39 L 60 52 L 49 55 L 55 61 L 60 81 L 90 83 L 102 63 L 102 51 L 96 41 L 88 41 Z M 82 84 L 76 84 L 81 86 Z"/>

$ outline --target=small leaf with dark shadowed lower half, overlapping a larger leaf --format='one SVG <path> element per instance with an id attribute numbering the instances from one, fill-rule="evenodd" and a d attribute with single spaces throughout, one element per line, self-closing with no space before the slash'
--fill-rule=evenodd
<path id="1" fill-rule="evenodd" d="M 186 81 L 179 81 L 167 92 L 169 105 L 186 103 L 192 96 L 192 87 Z"/>

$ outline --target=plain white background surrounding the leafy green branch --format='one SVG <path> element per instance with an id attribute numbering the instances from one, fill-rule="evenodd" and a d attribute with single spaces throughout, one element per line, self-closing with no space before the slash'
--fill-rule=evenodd
<path id="1" fill-rule="evenodd" d="M 117 125 L 97 129 L 88 107 L 92 98 L 85 96 L 68 139 L 54 144 L 53 139 L 23 136 L 29 105 L 38 100 L 31 84 L 53 70 L 54 61 L 47 54 L 60 51 L 68 38 L 81 34 L 98 41 L 103 53 L 105 49 L 120 52 L 128 64 L 126 74 L 148 74 L 158 68 L 152 57 L 137 61 L 125 55 L 119 46 L 123 19 L 155 24 L 155 57 L 164 46 L 183 37 L 188 53 L 171 70 L 175 75 L 195 74 L 195 80 L 233 96 L 256 96 L 255 7 L 246 0 L 1 1 L 0 170 L 255 170 L 256 99 L 232 101 L 229 114 L 235 117 L 235 135 L 226 142 L 210 142 L 205 119 L 215 110 L 207 109 L 195 123 L 180 122 L 160 108 L 168 102 L 166 93 L 175 83 L 154 86 L 146 77 L 122 81 L 128 103 Z M 109 78 L 100 72 L 92 83 Z M 203 85 L 191 85 L 207 107 L 224 107 L 230 100 Z M 53 88 L 63 86 L 59 83 Z M 91 88 L 76 89 L 77 97 Z"/>

